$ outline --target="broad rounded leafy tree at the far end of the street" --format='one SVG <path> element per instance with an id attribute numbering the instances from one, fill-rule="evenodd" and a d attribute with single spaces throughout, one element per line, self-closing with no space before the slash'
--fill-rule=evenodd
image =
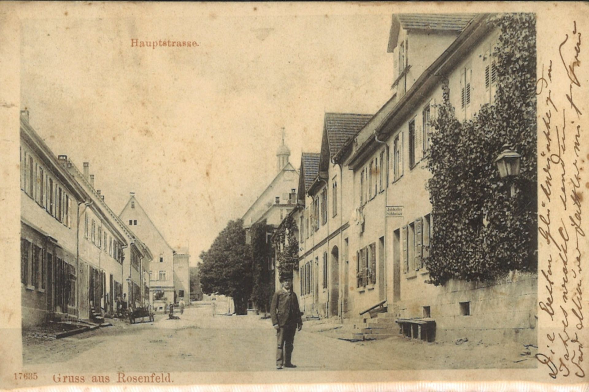
<path id="1" fill-rule="evenodd" d="M 198 276 L 203 292 L 233 298 L 236 314 L 247 314 L 247 301 L 252 295 L 251 254 L 241 219 L 227 223 L 211 248 L 200 254 L 203 262 Z"/>

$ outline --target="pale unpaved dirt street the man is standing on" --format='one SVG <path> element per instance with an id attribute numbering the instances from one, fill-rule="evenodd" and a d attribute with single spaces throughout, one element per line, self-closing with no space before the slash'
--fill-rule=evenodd
<path id="1" fill-rule="evenodd" d="M 153 323 L 130 325 L 115 321 L 112 327 L 59 340 L 24 336 L 24 368 L 44 373 L 274 369 L 276 334 L 269 319 L 253 314 L 213 317 L 211 310 L 210 304 L 199 304 L 187 307 L 183 315 L 178 313 L 178 320 L 157 314 Z M 337 339 L 337 328 L 326 322 L 306 322 L 294 338 L 293 363 L 298 367 L 283 371 L 536 365 L 533 353 L 526 353 L 517 344 L 428 344 L 402 337 L 348 342 Z M 395 354 L 408 352 L 412 355 Z"/>

